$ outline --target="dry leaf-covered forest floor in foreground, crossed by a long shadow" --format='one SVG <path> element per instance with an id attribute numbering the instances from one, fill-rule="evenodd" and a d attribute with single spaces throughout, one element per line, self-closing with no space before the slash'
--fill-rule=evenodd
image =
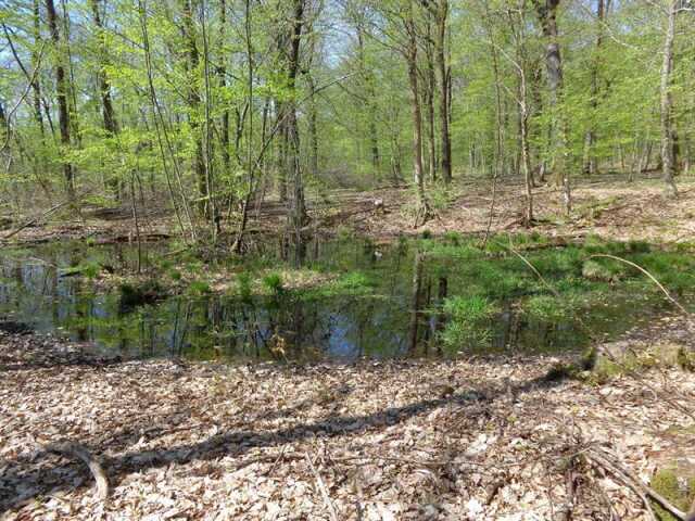
<path id="1" fill-rule="evenodd" d="M 0 519 L 653 519 L 623 472 L 692 471 L 695 374 L 545 378 L 559 361 L 128 361 L 0 333 Z"/>

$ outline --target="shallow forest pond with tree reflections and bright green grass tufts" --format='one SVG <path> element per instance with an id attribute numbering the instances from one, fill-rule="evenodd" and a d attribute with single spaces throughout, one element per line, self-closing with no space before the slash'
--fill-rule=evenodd
<path id="1" fill-rule="evenodd" d="M 174 246 L 147 247 L 156 266 Z M 642 262 L 658 255 L 657 266 L 665 264 L 665 254 L 649 252 L 622 251 L 641 255 Z M 584 247 L 528 253 L 547 277 L 545 283 L 515 255 L 480 251 L 458 240 L 375 245 L 354 237 L 315 239 L 295 253 L 268 243 L 241 262 L 222 258 L 217 264 L 252 277 L 266 274 L 266 282 L 268 269 L 287 267 L 329 274 L 333 283 L 290 290 L 276 280 L 273 291 L 263 294 L 189 292 L 124 306 L 117 288 L 100 291 L 93 279 L 76 276 L 71 267 L 132 271 L 132 245 L 62 242 L 5 249 L 0 252 L 0 320 L 124 358 L 350 360 L 580 351 L 592 338 L 615 338 L 666 306 L 662 295 L 636 274 L 591 277 L 585 272 L 591 252 Z M 692 274 L 691 256 L 673 255 L 682 265 L 678 281 L 687 291 L 693 281 L 683 282 L 683 274 Z M 667 259 L 665 276 L 673 275 L 673 264 Z M 553 301 L 548 283 L 568 295 L 572 306 Z"/>

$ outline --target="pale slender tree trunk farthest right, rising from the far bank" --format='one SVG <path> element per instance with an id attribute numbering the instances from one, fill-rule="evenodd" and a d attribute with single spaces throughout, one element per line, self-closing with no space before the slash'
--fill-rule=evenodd
<path id="1" fill-rule="evenodd" d="M 671 74 L 673 72 L 673 41 L 675 39 L 675 15 L 680 0 L 671 0 L 668 25 L 664 40 L 664 63 L 661 65 L 661 173 L 667 196 L 677 196 L 675 156 L 673 140 L 673 98 L 671 94 Z"/>

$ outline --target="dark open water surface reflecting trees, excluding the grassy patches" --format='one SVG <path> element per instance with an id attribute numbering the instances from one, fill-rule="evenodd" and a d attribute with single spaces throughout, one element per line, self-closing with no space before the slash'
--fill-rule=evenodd
<path id="1" fill-rule="evenodd" d="M 275 266 L 299 263 L 339 274 L 358 270 L 374 282 L 371 294 L 312 296 L 287 291 L 245 300 L 181 296 L 124 313 L 116 292 L 101 294 L 93 282 L 61 274 L 86 260 L 131 269 L 137 263 L 135 246 L 67 243 L 2 255 L 0 319 L 62 332 L 124 357 L 350 359 L 458 350 L 547 352 L 581 348 L 586 342 L 571 321 L 529 320 L 509 301 L 486 325 L 491 334 L 485 339 L 442 353 L 438 336 L 446 325 L 444 300 L 473 283 L 455 263 L 432 260 L 415 246 L 377 249 L 358 240 L 314 240 L 302 243 L 299 251 L 293 247 L 285 241 L 267 243 L 254 257 Z M 149 255 L 155 256 L 156 251 Z M 630 327 L 629 305 L 607 306 L 604 312 L 595 310 L 590 317 L 598 330 L 611 333 Z M 621 314 L 620 320 L 616 313 Z"/>

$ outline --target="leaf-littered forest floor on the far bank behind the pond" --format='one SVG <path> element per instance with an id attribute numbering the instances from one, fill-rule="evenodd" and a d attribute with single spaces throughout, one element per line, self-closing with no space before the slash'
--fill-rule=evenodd
<path id="1" fill-rule="evenodd" d="M 413 201 L 409 189 L 386 188 L 368 192 L 333 190 L 309 193 L 308 211 L 312 224 L 307 231 L 330 232 L 352 230 L 375 240 L 389 240 L 401 234 L 417 234 L 428 230 L 434 236 L 446 232 L 484 233 L 490 231 L 528 231 L 521 226 L 525 200 L 520 185 L 500 181 L 493 202 L 490 181 L 454 185 L 430 190 L 434 217 L 414 228 Z M 582 180 L 573 190 L 573 212 L 564 215 L 561 194 L 557 187 L 543 186 L 534 190 L 534 212 L 539 219 L 533 227 L 547 236 L 581 237 L 589 233 L 611 240 L 645 240 L 652 242 L 684 242 L 695 240 L 695 179 L 679 180 L 680 195 L 664 198 L 659 179 L 628 182 L 607 177 L 595 181 Z M 382 203 L 382 204 L 376 204 Z M 164 207 L 141 212 L 140 225 L 144 240 L 175 236 L 174 215 Z M 285 226 L 285 205 L 271 198 L 250 213 L 250 233 L 275 233 Z M 81 218 L 65 214 L 38 218 L 36 224 L 14 233 L 33 216 L 14 217 L 5 224 L 0 239 L 12 234 L 14 242 L 47 242 L 56 239 L 91 239 L 96 242 L 135 240 L 131 209 L 87 208 Z M 223 229 L 230 233 L 233 221 L 225 221 Z"/>

